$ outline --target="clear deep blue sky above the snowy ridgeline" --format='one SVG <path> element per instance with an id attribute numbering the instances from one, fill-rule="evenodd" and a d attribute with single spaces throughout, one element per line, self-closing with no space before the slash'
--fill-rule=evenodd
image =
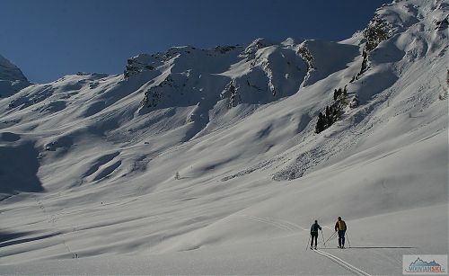
<path id="1" fill-rule="evenodd" d="M 343 40 L 390 0 L 0 0 L 0 54 L 33 82 L 117 74 L 136 54 L 259 37 Z"/>

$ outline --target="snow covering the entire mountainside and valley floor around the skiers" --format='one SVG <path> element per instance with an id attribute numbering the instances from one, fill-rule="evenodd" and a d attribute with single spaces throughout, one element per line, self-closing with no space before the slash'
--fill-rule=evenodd
<path id="1" fill-rule="evenodd" d="M 338 216 L 354 248 L 321 250 L 364 272 L 447 254 L 448 9 L 386 4 L 367 29 L 386 40 L 176 47 L 7 92 L 0 272 L 349 274 L 304 250 Z M 345 85 L 359 105 L 316 134 Z"/>

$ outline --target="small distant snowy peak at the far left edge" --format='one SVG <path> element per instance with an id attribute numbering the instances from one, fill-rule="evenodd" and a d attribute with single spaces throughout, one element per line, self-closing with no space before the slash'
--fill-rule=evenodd
<path id="1" fill-rule="evenodd" d="M 0 97 L 10 96 L 30 85 L 21 69 L 0 55 Z"/>

